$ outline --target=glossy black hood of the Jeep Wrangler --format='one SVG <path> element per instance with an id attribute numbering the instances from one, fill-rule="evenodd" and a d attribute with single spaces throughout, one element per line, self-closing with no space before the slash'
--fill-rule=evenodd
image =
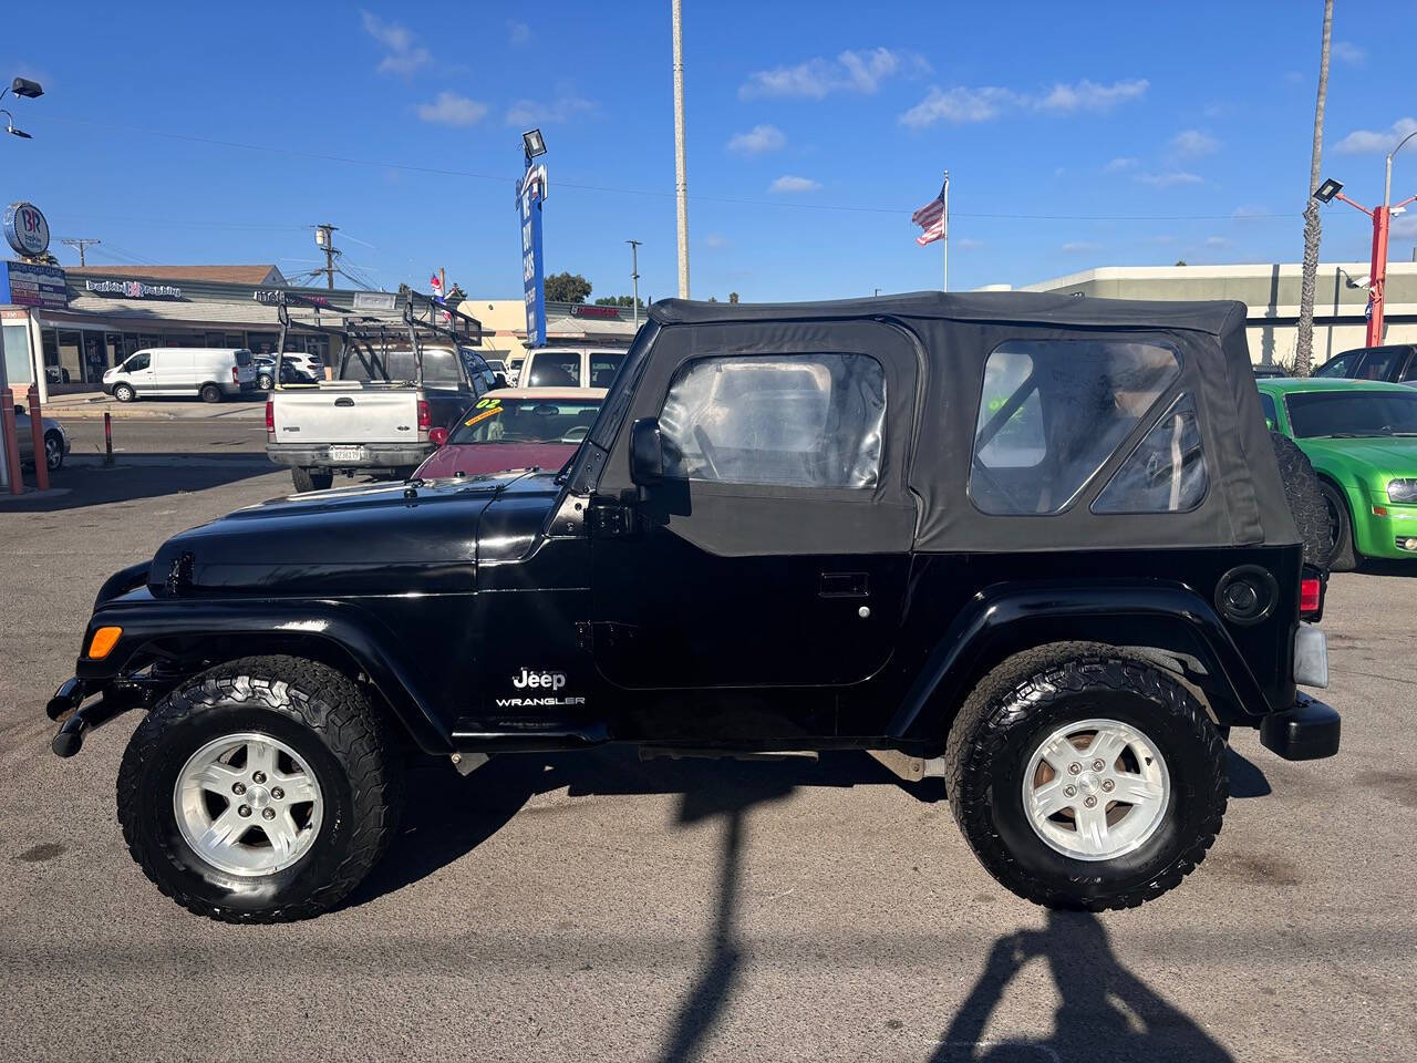
<path id="1" fill-rule="evenodd" d="M 169 539 L 149 587 L 156 595 L 470 592 L 483 510 L 519 476 L 360 485 L 238 509 Z"/>

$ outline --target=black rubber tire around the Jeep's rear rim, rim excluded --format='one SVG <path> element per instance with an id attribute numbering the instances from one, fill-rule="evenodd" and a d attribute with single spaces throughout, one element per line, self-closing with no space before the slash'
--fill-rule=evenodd
<path id="1" fill-rule="evenodd" d="M 955 821 L 985 869 L 1026 900 L 1056 909 L 1131 909 L 1173 889 L 1216 840 L 1230 784 L 1226 744 L 1185 686 L 1144 659 L 1049 649 L 996 668 L 949 730 L 945 785 Z M 1070 720 L 1094 716 L 1136 727 L 1166 760 L 1169 806 L 1134 852 L 1077 860 L 1050 848 L 1023 809 L 1034 746 Z"/>

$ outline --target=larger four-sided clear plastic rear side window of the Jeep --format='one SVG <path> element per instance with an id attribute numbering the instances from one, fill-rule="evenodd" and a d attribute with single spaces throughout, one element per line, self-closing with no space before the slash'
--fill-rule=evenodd
<path id="1" fill-rule="evenodd" d="M 1009 340 L 985 363 L 969 497 L 985 513 L 1058 513 L 1180 373 L 1127 340 Z"/>

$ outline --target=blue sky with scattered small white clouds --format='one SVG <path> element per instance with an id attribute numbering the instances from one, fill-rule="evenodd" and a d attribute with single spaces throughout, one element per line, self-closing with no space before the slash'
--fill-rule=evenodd
<path id="1" fill-rule="evenodd" d="M 1319 0 L 684 7 L 696 298 L 938 286 L 910 213 L 944 169 L 952 288 L 1299 257 Z M 1338 9 L 1323 169 L 1372 204 L 1393 130 L 1417 128 L 1417 6 Z M 295 275 L 332 221 L 378 285 L 442 265 L 514 298 L 520 132 L 540 125 L 548 271 L 628 292 L 636 238 L 640 293 L 674 293 L 667 0 L 18 4 L 4 23 L 0 77 L 45 95 L 6 99 L 34 139 L 0 143 L 0 200 L 38 204 L 55 240 L 102 238 L 91 262 Z M 1413 191 L 1417 147 L 1394 198 Z M 1366 218 L 1325 211 L 1325 259 L 1367 245 Z"/>

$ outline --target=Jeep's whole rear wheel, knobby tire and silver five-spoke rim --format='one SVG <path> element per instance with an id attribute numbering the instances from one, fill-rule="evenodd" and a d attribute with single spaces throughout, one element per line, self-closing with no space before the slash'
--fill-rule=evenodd
<path id="1" fill-rule="evenodd" d="M 1061 909 L 1135 907 L 1204 859 L 1224 741 L 1142 660 L 1068 660 L 981 686 L 949 731 L 949 804 L 985 869 Z"/>

